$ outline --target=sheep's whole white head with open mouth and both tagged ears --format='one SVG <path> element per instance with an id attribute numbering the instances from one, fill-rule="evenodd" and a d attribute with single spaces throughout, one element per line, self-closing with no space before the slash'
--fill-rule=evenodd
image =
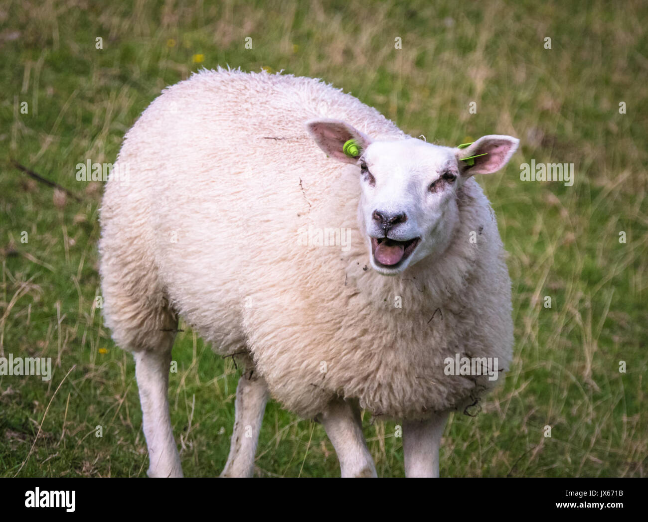
<path id="1" fill-rule="evenodd" d="M 384 275 L 443 253 L 459 225 L 457 190 L 473 174 L 500 170 L 519 142 L 500 135 L 481 137 L 466 148 L 409 137 L 372 141 L 353 126 L 329 119 L 310 120 L 307 129 L 329 157 L 358 167 L 360 229 L 371 266 Z M 345 153 L 345 143 L 355 147 L 347 146 Z"/>

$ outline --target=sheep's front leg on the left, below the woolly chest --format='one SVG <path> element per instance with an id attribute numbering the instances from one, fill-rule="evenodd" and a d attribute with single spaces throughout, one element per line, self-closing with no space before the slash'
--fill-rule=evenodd
<path id="1" fill-rule="evenodd" d="M 376 467 L 362 435 L 360 410 L 343 400 L 334 401 L 319 420 L 338 454 L 342 477 L 376 477 Z"/>

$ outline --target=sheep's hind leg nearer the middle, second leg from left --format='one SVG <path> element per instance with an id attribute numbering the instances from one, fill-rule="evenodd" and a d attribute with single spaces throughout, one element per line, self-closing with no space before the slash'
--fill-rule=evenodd
<path id="1" fill-rule="evenodd" d="M 234 430 L 221 477 L 252 476 L 266 402 L 266 381 L 254 370 L 246 371 L 238 380 Z"/>

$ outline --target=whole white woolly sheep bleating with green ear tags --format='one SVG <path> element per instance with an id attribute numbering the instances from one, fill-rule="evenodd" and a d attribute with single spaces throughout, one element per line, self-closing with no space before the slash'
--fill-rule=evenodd
<path id="1" fill-rule="evenodd" d="M 100 209 L 105 324 L 135 359 L 148 475 L 182 476 L 167 393 L 183 317 L 244 362 L 222 476 L 253 474 L 271 396 L 323 424 L 343 477 L 376 476 L 361 409 L 402 420 L 406 476 L 439 476 L 448 413 L 511 361 L 505 250 L 472 176 L 517 146 L 415 139 L 291 74 L 219 67 L 163 91 Z M 459 356 L 499 366 L 455 372 Z"/>

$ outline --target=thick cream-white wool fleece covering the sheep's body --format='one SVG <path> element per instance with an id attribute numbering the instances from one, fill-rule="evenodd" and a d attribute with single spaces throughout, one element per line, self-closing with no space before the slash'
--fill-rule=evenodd
<path id="1" fill-rule="evenodd" d="M 202 71 L 146 109 L 119 153 L 130 180 L 109 181 L 101 209 L 113 338 L 156 350 L 180 315 L 218 353 L 248 350 L 273 398 L 301 416 L 336 396 L 395 418 L 462 408 L 497 381 L 446 376 L 444 359 L 507 369 L 513 345 L 489 201 L 468 179 L 445 253 L 380 275 L 358 226 L 358 168 L 321 152 L 305 130 L 316 118 L 408 138 L 353 96 L 288 74 Z M 350 229 L 349 248 L 300 244 L 309 225 Z"/>

